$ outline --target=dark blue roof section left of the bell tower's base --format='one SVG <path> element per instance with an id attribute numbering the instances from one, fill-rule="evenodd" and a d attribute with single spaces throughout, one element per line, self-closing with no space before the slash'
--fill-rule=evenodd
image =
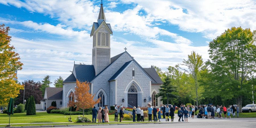
<path id="1" fill-rule="evenodd" d="M 74 74 L 75 73 L 75 74 Z M 65 82 L 90 82 L 95 77 L 95 69 L 93 65 L 74 65 L 73 73 L 63 81 Z M 77 80 L 76 80 L 77 79 Z M 75 80 L 75 81 L 74 81 Z"/>

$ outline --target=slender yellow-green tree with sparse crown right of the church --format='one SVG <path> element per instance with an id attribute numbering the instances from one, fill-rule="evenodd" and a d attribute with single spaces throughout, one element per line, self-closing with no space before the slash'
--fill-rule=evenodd
<path id="1" fill-rule="evenodd" d="M 187 73 L 189 73 L 189 76 L 193 79 L 193 85 L 195 88 L 195 93 L 196 93 L 196 101 L 197 101 L 197 106 L 198 106 L 198 89 L 199 89 L 199 83 L 197 82 L 198 80 L 198 74 L 202 70 L 204 62 L 202 59 L 202 55 L 196 54 L 195 51 L 191 52 L 191 55 L 188 55 L 188 60 L 183 61 L 183 64 L 187 66 L 189 71 L 186 69 L 183 69 Z"/>

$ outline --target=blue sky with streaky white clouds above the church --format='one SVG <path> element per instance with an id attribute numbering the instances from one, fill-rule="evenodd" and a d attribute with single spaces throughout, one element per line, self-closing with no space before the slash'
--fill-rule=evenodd
<path id="1" fill-rule="evenodd" d="M 11 46 L 24 64 L 19 82 L 51 82 L 75 64 L 92 64 L 93 22 L 100 0 L 0 0 L 0 24 L 10 27 Z M 255 0 L 103 0 L 110 23 L 111 57 L 127 52 L 143 67 L 163 72 L 191 51 L 209 59 L 208 44 L 231 27 L 256 30 Z M 182 67 L 186 68 L 186 67 Z M 54 87 L 53 84 L 50 84 Z"/>

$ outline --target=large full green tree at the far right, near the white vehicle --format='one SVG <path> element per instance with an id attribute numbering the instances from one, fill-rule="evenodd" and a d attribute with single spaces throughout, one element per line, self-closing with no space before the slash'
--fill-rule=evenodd
<path id="1" fill-rule="evenodd" d="M 215 76 L 221 76 L 222 79 L 215 79 L 219 86 L 223 85 L 222 87 L 231 91 L 228 97 L 237 98 L 240 112 L 242 97 L 247 95 L 249 89 L 246 79 L 249 79 L 249 74 L 254 74 L 256 69 L 254 34 L 255 31 L 252 33 L 248 28 L 232 27 L 209 43 L 211 61 L 207 64 Z"/>

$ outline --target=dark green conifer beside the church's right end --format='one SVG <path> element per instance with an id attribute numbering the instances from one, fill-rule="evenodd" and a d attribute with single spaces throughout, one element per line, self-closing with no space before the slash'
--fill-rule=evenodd
<path id="1" fill-rule="evenodd" d="M 170 76 L 166 76 L 164 78 L 164 84 L 160 86 L 161 88 L 159 89 L 159 93 L 156 94 L 156 97 L 162 97 L 161 100 L 167 98 L 167 104 L 169 104 L 169 98 L 177 98 L 177 95 L 175 94 L 176 92 L 176 87 L 174 87 L 171 84 L 171 79 Z"/>

